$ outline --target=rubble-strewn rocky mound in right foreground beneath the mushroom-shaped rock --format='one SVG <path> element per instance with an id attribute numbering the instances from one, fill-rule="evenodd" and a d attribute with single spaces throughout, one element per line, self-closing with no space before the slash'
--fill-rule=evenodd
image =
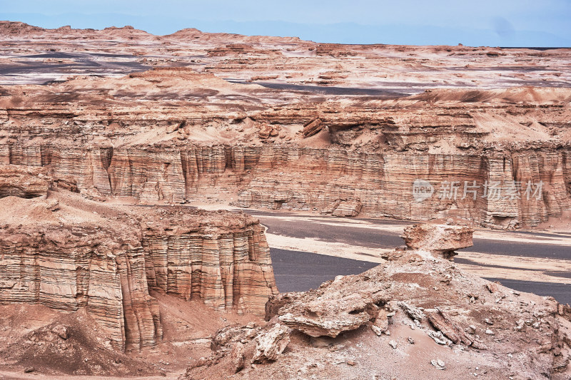
<path id="1" fill-rule="evenodd" d="M 391 259 L 309 292 L 276 294 L 266 304 L 265 326 L 222 329 L 213 354 L 182 378 L 236 371 L 248 379 L 300 372 L 314 379 L 564 380 L 571 374 L 568 306 L 480 279 L 425 251 L 398 250 Z M 248 366 L 256 342 L 278 336 L 260 339 L 263 332 L 279 324 L 292 329 L 287 350 L 271 364 Z"/>

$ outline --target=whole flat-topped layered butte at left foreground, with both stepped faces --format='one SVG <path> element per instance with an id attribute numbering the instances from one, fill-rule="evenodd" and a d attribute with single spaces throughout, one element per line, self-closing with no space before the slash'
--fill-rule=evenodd
<path id="1" fill-rule="evenodd" d="M 112 346 L 142 349 L 162 337 L 149 289 L 257 314 L 277 292 L 263 230 L 251 217 L 183 209 L 141 217 L 58 194 L 51 193 L 56 209 L 53 199 L 0 200 L 9 214 L 0 229 L 0 304 L 86 308 Z M 92 212 L 108 218 L 85 220 Z"/>

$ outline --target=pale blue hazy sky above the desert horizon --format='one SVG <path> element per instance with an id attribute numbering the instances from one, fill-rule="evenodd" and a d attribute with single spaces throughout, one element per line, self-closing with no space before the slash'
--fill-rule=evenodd
<path id="1" fill-rule="evenodd" d="M 0 19 L 45 28 L 131 25 L 318 42 L 571 46 L 571 0 L 0 0 Z"/>

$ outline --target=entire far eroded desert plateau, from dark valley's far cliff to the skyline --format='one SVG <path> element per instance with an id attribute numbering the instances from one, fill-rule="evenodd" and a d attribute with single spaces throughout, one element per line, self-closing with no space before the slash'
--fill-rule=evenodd
<path id="1" fill-rule="evenodd" d="M 0 163 L 46 167 L 91 199 L 319 212 L 340 204 L 336 214 L 358 214 L 345 200 L 368 217 L 499 228 L 571 210 L 571 93 L 560 87 L 570 80 L 568 49 L 343 46 L 7 21 L 0 34 L 0 81 L 24 85 L 0 91 Z M 35 56 L 36 44 L 61 59 Z M 132 65 L 111 64 L 117 56 Z"/>

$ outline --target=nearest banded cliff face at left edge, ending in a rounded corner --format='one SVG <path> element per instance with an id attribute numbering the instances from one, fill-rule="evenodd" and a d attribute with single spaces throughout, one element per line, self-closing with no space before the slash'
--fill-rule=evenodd
<path id="1" fill-rule="evenodd" d="M 152 346 L 162 334 L 143 250 L 136 240 L 115 235 L 84 228 L 2 230 L 0 304 L 67 312 L 86 307 L 117 349 Z"/>

